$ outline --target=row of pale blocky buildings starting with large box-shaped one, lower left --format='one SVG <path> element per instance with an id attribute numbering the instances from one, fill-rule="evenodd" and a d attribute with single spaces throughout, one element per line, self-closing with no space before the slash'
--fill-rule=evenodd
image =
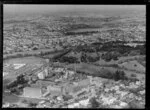
<path id="1" fill-rule="evenodd" d="M 25 87 L 23 90 L 24 97 L 32 98 L 53 98 L 54 96 L 62 96 L 65 94 L 77 97 L 78 94 L 89 91 L 90 81 L 89 79 L 77 82 L 74 84 L 55 85 L 49 81 L 37 81 L 35 86 Z"/>

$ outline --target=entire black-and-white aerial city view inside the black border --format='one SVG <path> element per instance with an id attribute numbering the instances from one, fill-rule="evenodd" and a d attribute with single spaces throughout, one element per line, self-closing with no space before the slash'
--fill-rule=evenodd
<path id="1" fill-rule="evenodd" d="M 145 5 L 3 13 L 3 108 L 145 108 Z"/>

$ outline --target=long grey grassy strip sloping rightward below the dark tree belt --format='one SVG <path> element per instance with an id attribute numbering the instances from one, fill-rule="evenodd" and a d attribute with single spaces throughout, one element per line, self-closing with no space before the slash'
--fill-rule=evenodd
<path id="1" fill-rule="evenodd" d="M 70 65 L 67 65 L 66 67 L 76 69 L 76 71 L 79 71 L 79 72 L 96 75 L 99 77 L 103 77 L 108 73 L 114 74 L 117 70 L 120 70 L 120 71 L 124 71 L 127 77 L 131 77 L 131 75 L 134 74 L 136 75 L 138 79 L 145 78 L 145 74 L 141 74 L 136 71 L 130 71 L 124 68 L 117 68 L 113 66 L 111 67 L 111 65 L 96 66 L 93 64 L 81 63 L 81 64 L 70 64 Z"/>

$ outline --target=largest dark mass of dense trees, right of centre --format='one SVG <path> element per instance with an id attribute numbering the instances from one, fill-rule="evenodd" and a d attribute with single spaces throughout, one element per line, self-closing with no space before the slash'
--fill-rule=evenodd
<path id="1" fill-rule="evenodd" d="M 128 45 L 124 45 L 125 42 L 118 41 L 115 43 L 108 42 L 103 45 L 101 43 L 92 44 L 91 46 L 78 46 L 75 51 L 77 52 L 83 52 L 83 53 L 94 53 L 94 52 L 100 52 L 100 51 L 107 51 L 106 54 L 103 54 L 101 56 L 102 59 L 105 61 L 118 60 L 118 57 L 122 55 L 128 55 L 131 52 L 135 55 L 145 55 L 146 54 L 146 46 L 145 45 L 137 45 L 136 47 L 131 47 Z M 82 62 L 94 62 L 98 60 L 98 58 L 94 57 L 88 57 L 86 54 L 81 55 L 81 61 Z"/>

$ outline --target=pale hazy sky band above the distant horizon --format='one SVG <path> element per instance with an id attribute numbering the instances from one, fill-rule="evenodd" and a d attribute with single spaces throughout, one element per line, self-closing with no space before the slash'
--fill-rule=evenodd
<path id="1" fill-rule="evenodd" d="M 91 11 L 145 11 L 144 5 L 15 5 L 5 4 L 5 13 L 42 13 L 42 12 L 91 12 Z"/>

